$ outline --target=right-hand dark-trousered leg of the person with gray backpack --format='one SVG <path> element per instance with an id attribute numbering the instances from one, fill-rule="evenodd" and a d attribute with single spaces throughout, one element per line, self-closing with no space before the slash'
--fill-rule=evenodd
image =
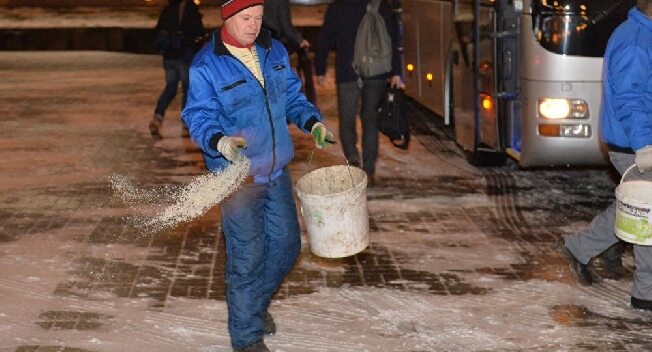
<path id="1" fill-rule="evenodd" d="M 372 177 L 378 158 L 378 104 L 385 87 L 385 80 L 381 79 L 366 80 L 362 87 L 362 169 Z"/>

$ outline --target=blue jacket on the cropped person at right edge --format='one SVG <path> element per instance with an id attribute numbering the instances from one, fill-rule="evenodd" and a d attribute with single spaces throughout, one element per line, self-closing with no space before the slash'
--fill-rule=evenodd
<path id="1" fill-rule="evenodd" d="M 651 145 L 652 20 L 636 8 L 609 38 L 603 79 L 603 140 L 634 151 Z"/>

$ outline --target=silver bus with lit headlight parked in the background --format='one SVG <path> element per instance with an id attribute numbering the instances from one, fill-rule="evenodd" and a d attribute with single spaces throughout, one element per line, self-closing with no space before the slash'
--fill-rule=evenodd
<path id="1" fill-rule="evenodd" d="M 602 62 L 635 0 L 403 0 L 406 94 L 473 165 L 607 164 Z"/>

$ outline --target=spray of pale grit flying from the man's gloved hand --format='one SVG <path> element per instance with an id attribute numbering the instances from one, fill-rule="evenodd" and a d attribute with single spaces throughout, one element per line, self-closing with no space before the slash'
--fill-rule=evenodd
<path id="1" fill-rule="evenodd" d="M 249 159 L 242 156 L 220 172 L 196 176 L 181 187 L 161 187 L 154 190 L 143 190 L 120 175 L 112 176 L 110 181 L 114 194 L 132 208 L 157 203 L 153 204 L 154 214 L 129 217 L 136 227 L 156 232 L 205 214 L 242 185 L 249 174 L 250 166 Z M 161 205 L 162 202 L 171 204 Z"/>

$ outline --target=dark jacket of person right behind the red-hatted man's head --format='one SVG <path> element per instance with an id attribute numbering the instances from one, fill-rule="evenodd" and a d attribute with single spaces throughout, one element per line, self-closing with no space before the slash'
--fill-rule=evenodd
<path id="1" fill-rule="evenodd" d="M 288 48 L 296 49 L 303 41 L 301 33 L 292 25 L 288 0 L 265 0 L 263 27 Z"/>

